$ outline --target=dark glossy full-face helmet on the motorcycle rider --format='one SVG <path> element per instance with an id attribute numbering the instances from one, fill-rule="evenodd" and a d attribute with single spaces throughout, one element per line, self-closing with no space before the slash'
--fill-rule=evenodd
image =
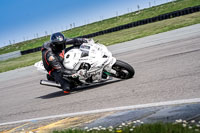
<path id="1" fill-rule="evenodd" d="M 60 33 L 53 33 L 51 35 L 51 48 L 54 52 L 60 52 L 65 49 L 65 36 Z"/>

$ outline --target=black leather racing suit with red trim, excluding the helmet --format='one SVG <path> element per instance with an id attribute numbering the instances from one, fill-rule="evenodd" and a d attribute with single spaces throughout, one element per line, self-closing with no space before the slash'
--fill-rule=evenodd
<path id="1" fill-rule="evenodd" d="M 82 38 L 66 39 L 65 45 L 73 44 L 73 46 L 57 52 L 52 50 L 51 41 L 45 42 L 41 48 L 44 68 L 48 71 L 49 75 L 51 75 L 55 79 L 56 82 L 59 82 L 61 84 L 61 88 L 63 90 L 69 89 L 70 84 L 67 80 L 63 79 L 62 75 L 72 75 L 75 73 L 73 70 L 66 70 L 64 68 L 62 64 L 64 60 L 64 54 L 69 49 L 72 49 L 73 47 L 79 47 L 80 44 L 84 42 L 85 39 Z"/>

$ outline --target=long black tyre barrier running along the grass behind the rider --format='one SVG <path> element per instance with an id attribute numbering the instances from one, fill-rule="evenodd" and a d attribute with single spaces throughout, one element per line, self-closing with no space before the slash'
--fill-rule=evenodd
<path id="1" fill-rule="evenodd" d="M 128 28 L 137 27 L 137 26 L 140 26 L 140 25 L 148 24 L 148 23 L 162 21 L 162 20 L 165 20 L 165 19 L 175 18 L 175 17 L 179 17 L 179 16 L 183 16 L 183 15 L 187 15 L 187 14 L 191 14 L 191 13 L 199 12 L 199 11 L 200 11 L 200 5 L 195 6 L 195 7 L 189 7 L 189 8 L 185 8 L 185 9 L 182 9 L 182 10 L 177 10 L 177 11 L 174 11 L 174 12 L 162 14 L 162 15 L 159 15 L 159 16 L 156 16 L 156 17 L 139 20 L 139 21 L 136 21 L 136 22 L 125 24 L 125 25 L 120 25 L 120 26 L 110 28 L 110 29 L 107 29 L 107 30 L 98 31 L 98 32 L 95 32 L 95 33 L 92 33 L 92 34 L 79 36 L 79 38 L 92 38 L 92 37 L 96 37 L 96 36 L 99 36 L 99 35 L 104 35 L 104 34 L 107 34 L 107 33 L 120 31 L 120 30 L 123 30 L 123 29 L 128 29 Z M 40 50 L 41 50 L 41 47 L 37 47 L 37 48 L 21 51 L 21 54 L 22 55 L 29 54 L 29 53 L 37 52 L 37 51 L 40 51 Z"/>

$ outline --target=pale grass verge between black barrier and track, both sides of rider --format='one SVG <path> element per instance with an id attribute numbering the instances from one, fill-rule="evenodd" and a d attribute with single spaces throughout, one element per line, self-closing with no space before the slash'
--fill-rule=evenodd
<path id="1" fill-rule="evenodd" d="M 99 40 L 102 44 L 112 45 L 197 23 L 200 23 L 200 12 L 97 36 L 94 39 Z M 41 60 L 41 52 L 0 61 L 0 72 L 30 66 L 39 60 Z"/>

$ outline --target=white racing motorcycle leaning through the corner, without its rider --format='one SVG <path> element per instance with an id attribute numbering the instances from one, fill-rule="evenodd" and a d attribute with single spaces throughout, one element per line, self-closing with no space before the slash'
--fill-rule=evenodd
<path id="1" fill-rule="evenodd" d="M 39 71 L 47 74 L 47 80 L 41 80 L 41 85 L 60 88 L 54 78 L 48 75 L 42 61 L 34 65 Z M 112 80 L 112 78 L 129 79 L 135 74 L 135 70 L 126 62 L 117 60 L 103 44 L 94 42 L 93 39 L 80 45 L 80 48 L 69 50 L 64 55 L 63 66 L 66 69 L 77 71 L 77 77 L 64 76 L 73 88 L 94 85 Z"/>

